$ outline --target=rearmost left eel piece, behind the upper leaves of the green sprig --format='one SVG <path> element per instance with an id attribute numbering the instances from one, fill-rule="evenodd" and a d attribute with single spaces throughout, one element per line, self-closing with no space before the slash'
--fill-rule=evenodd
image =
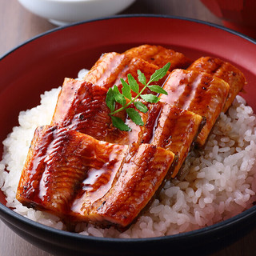
<path id="1" fill-rule="evenodd" d="M 120 78 L 126 80 L 126 74 L 130 73 L 136 78 L 137 70 L 141 70 L 148 80 L 156 69 L 167 62 L 170 62 L 170 71 L 186 68 L 191 64 L 188 58 L 174 50 L 162 46 L 143 45 L 126 50 L 123 54 L 102 54 L 83 80 L 109 89 L 114 84 L 120 85 Z M 165 78 L 158 82 L 159 86 L 162 86 Z"/>

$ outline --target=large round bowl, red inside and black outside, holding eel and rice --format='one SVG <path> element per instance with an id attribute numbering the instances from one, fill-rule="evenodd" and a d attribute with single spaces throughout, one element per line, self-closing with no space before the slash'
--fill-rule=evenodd
<path id="1" fill-rule="evenodd" d="M 65 77 L 75 78 L 82 68 L 90 69 L 104 52 L 122 52 L 144 43 L 167 46 L 192 59 L 208 55 L 238 66 L 247 80 L 247 93 L 242 96 L 256 111 L 256 42 L 252 39 L 206 22 L 126 15 L 58 28 L 4 55 L 0 59 L 0 118 L 4 124 L 0 140 L 18 125 L 21 110 L 38 105 L 42 92 L 61 86 Z M 179 254 L 217 250 L 234 236 L 242 235 L 245 228 L 252 228 L 256 220 L 253 207 L 225 222 L 185 234 L 142 239 L 92 238 L 54 230 L 14 213 L 5 206 L 2 192 L 0 202 L 0 218 L 10 228 L 44 250 L 61 255 L 163 255 L 175 250 Z"/>

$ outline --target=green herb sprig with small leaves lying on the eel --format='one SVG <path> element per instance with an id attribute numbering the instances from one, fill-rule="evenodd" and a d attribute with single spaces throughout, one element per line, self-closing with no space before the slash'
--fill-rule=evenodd
<path id="1" fill-rule="evenodd" d="M 170 63 L 167 63 L 165 66 L 163 66 L 161 69 L 156 70 L 154 74 L 151 75 L 149 82 L 146 82 L 145 75 L 140 71 L 138 71 L 138 81 L 142 83 L 143 88 L 139 91 L 138 82 L 136 82 L 135 78 L 128 74 L 128 83 L 125 82 L 122 78 L 120 81 L 122 82 L 122 94 L 118 90 L 118 86 L 111 87 L 106 94 L 106 106 L 110 109 L 110 118 L 112 120 L 113 126 L 117 127 L 119 130 L 124 131 L 130 131 L 130 126 L 127 126 L 121 118 L 118 118 L 114 116 L 114 114 L 117 114 L 118 112 L 122 110 L 126 110 L 126 113 L 130 117 L 130 119 L 137 124 L 138 126 L 144 126 L 144 122 L 142 121 L 142 118 L 137 110 L 141 111 L 142 113 L 146 113 L 148 111 L 148 108 L 145 104 L 142 102 L 136 102 L 137 98 L 142 98 L 146 102 L 150 103 L 156 103 L 159 101 L 158 96 L 154 94 L 142 94 L 146 88 L 150 89 L 151 91 L 158 93 L 158 94 L 166 94 L 166 90 L 162 89 L 161 86 L 156 85 L 150 85 L 152 82 L 157 82 L 161 78 L 163 78 L 167 71 L 170 68 Z M 132 97 L 131 91 L 133 91 L 135 94 L 137 94 L 134 98 Z M 115 104 L 118 102 L 122 105 L 118 110 L 115 110 Z M 134 108 L 127 108 L 127 106 L 130 106 L 130 104 L 134 103 L 134 106 L 137 110 Z"/>

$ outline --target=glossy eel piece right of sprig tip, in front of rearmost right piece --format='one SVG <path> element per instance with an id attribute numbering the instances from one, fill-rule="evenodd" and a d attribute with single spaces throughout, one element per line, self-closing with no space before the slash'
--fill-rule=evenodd
<path id="1" fill-rule="evenodd" d="M 162 102 L 206 118 L 206 125 L 197 138 L 198 145 L 203 146 L 226 102 L 229 84 L 211 74 L 194 70 L 174 70 L 163 89 L 168 95 L 161 95 Z"/>

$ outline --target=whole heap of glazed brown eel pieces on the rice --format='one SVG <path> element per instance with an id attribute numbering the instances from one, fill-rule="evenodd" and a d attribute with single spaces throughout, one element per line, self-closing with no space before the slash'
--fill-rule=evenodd
<path id="1" fill-rule="evenodd" d="M 149 111 L 139 114 L 145 125 L 121 111 L 118 117 L 132 131 L 115 128 L 107 90 L 115 84 L 121 91 L 120 78 L 127 81 L 129 73 L 138 82 L 138 69 L 149 81 L 166 62 L 170 70 L 157 84 L 168 95 L 159 95 L 156 104 L 144 102 Z M 239 70 L 218 59 L 190 64 L 183 54 L 143 45 L 103 54 L 82 81 L 66 78 L 50 126 L 35 131 L 18 200 L 69 222 L 129 226 L 166 179 L 178 174 L 194 142 L 204 145 L 245 83 Z"/>

